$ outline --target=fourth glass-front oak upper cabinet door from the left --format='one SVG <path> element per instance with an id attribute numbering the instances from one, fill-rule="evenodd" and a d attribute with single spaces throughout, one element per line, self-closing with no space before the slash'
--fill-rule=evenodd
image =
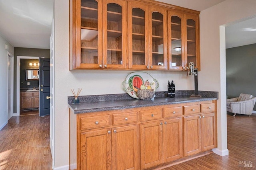
<path id="1" fill-rule="evenodd" d="M 149 17 L 149 67 L 167 69 L 167 11 L 150 7 Z"/>

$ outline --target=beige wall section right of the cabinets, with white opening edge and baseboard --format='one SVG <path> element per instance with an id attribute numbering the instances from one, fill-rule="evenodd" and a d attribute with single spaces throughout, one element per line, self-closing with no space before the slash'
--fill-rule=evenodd
<path id="1" fill-rule="evenodd" d="M 220 155 L 228 154 L 224 24 L 246 20 L 256 14 L 255 9 L 255 0 L 228 0 L 200 13 L 201 75 L 198 76 L 198 84 L 201 85 L 201 90 L 219 92 L 217 102 L 218 149 L 215 149 L 214 152 Z"/>

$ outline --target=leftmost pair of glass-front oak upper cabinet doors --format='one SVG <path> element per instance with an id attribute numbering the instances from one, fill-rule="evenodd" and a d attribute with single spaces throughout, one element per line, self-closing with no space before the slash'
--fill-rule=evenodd
<path id="1" fill-rule="evenodd" d="M 72 29 L 76 29 L 72 68 L 126 68 L 126 2 L 76 0 L 72 3 Z"/>

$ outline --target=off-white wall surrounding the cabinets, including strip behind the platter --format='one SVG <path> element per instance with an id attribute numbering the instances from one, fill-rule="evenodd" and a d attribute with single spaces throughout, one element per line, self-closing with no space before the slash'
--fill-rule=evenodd
<path id="1" fill-rule="evenodd" d="M 54 164 L 58 169 L 68 169 L 69 110 L 67 97 L 72 96 L 70 88 L 83 88 L 80 94 L 81 96 L 124 93 L 121 88 L 121 83 L 125 77 L 133 71 L 69 71 L 69 4 L 68 0 L 54 1 L 54 3 L 54 116 L 56 120 Z M 226 65 L 223 49 L 220 51 L 219 25 L 250 16 L 255 13 L 255 7 L 256 1 L 239 2 L 229 0 L 209 8 L 200 14 L 202 71 L 198 73 L 198 89 L 219 92 L 220 100 L 218 100 L 218 149 L 220 151 L 226 149 L 226 106 L 224 106 L 226 104 L 226 97 L 224 99 L 224 96 L 226 96 Z M 166 91 L 168 80 L 174 80 L 176 90 L 194 90 L 194 77 L 187 77 L 186 72 L 148 71 L 148 73 L 159 81 L 160 86 L 157 91 Z"/>

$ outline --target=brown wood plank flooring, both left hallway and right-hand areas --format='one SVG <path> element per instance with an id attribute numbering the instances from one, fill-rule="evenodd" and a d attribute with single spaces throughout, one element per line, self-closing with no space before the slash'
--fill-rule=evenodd
<path id="1" fill-rule="evenodd" d="M 208 154 L 162 170 L 255 170 L 256 114 L 228 113 L 227 123 L 229 155 Z M 0 131 L 0 170 L 50 170 L 49 133 L 50 116 L 12 117 Z"/>

